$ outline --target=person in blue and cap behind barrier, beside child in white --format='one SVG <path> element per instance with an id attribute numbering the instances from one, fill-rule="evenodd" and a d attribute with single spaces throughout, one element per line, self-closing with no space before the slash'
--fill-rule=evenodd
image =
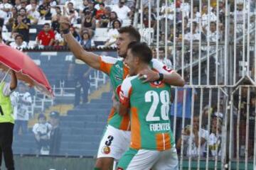
<path id="1" fill-rule="evenodd" d="M 60 153 L 60 142 L 62 132 L 60 130 L 60 113 L 53 111 L 50 113 L 50 125 L 52 130 L 50 131 L 50 152 L 51 155 Z"/>

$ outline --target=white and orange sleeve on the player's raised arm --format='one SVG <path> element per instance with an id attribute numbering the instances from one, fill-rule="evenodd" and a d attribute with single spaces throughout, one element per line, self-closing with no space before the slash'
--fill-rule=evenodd
<path id="1" fill-rule="evenodd" d="M 100 71 L 110 74 L 112 66 L 117 62 L 117 58 L 100 56 Z"/>

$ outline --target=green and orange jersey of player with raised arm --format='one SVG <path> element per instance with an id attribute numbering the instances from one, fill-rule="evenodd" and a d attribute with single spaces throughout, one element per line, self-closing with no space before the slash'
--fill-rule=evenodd
<path id="1" fill-rule="evenodd" d="M 156 72 L 163 74 L 169 74 L 173 71 L 158 60 L 152 60 L 151 67 L 156 70 Z M 129 69 L 125 66 L 122 59 L 100 56 L 100 71 L 105 72 L 110 77 L 115 98 L 119 101 L 121 84 L 125 77 L 127 77 Z M 108 125 L 112 125 L 114 128 L 120 130 L 130 130 L 129 115 L 120 116 L 114 111 L 114 108 L 112 108 L 108 118 Z"/>

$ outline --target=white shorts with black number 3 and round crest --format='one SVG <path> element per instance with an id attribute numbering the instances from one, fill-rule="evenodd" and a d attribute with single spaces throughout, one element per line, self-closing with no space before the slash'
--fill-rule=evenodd
<path id="1" fill-rule="evenodd" d="M 119 130 L 107 125 L 100 141 L 97 158 L 112 157 L 118 161 L 124 152 L 129 149 L 131 142 L 131 131 Z"/>

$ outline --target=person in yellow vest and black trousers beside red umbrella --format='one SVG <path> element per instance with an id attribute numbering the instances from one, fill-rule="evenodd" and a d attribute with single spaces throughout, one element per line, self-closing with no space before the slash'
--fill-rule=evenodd
<path id="1" fill-rule="evenodd" d="M 0 84 L 0 166 L 2 154 L 6 169 L 14 169 L 14 156 L 11 149 L 14 131 L 14 115 L 11 106 L 10 94 L 17 86 L 17 78 L 14 71 L 11 71 L 11 82 Z"/>

